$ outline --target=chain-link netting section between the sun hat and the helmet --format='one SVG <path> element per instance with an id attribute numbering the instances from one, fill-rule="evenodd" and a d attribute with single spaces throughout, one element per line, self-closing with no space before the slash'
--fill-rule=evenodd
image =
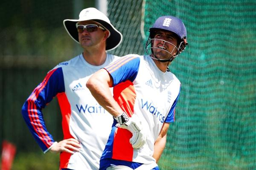
<path id="1" fill-rule="evenodd" d="M 140 31 L 142 2 L 143 0 L 108 0 L 109 20 L 123 35 L 122 43 L 109 53 L 119 56 L 144 54 Z"/>

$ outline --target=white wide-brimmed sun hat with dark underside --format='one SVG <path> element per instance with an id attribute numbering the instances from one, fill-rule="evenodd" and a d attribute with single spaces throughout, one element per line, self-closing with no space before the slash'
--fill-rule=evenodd
<path id="1" fill-rule="evenodd" d="M 109 32 L 110 36 L 106 40 L 106 51 L 113 50 L 122 42 L 122 34 L 110 23 L 108 17 L 96 8 L 85 8 L 79 14 L 78 20 L 64 20 L 63 24 L 70 37 L 79 43 L 76 23 L 79 21 L 93 20 L 100 23 Z"/>

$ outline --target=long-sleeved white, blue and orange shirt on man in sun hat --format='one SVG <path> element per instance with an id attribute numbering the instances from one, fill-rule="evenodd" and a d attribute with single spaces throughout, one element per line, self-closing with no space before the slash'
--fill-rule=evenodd
<path id="1" fill-rule="evenodd" d="M 107 54 L 103 65 L 94 66 L 80 54 L 61 62 L 48 72 L 24 103 L 22 114 L 29 130 L 42 150 L 47 152 L 55 140 L 45 126 L 42 109 L 57 96 L 64 139 L 74 138 L 82 145 L 81 150 L 73 155 L 60 154 L 60 168 L 99 169 L 99 159 L 111 132 L 113 117 L 96 102 L 86 88 L 86 82 L 93 73 L 117 59 L 119 57 Z"/>

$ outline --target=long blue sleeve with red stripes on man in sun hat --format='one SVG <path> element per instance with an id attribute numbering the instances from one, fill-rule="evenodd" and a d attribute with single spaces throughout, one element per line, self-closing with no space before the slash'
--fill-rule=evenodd
<path id="1" fill-rule="evenodd" d="M 48 72 L 23 104 L 21 110 L 23 118 L 43 151 L 46 151 L 55 141 L 45 126 L 42 109 L 52 101 L 53 97 L 64 91 L 62 68 L 56 68 Z"/>

